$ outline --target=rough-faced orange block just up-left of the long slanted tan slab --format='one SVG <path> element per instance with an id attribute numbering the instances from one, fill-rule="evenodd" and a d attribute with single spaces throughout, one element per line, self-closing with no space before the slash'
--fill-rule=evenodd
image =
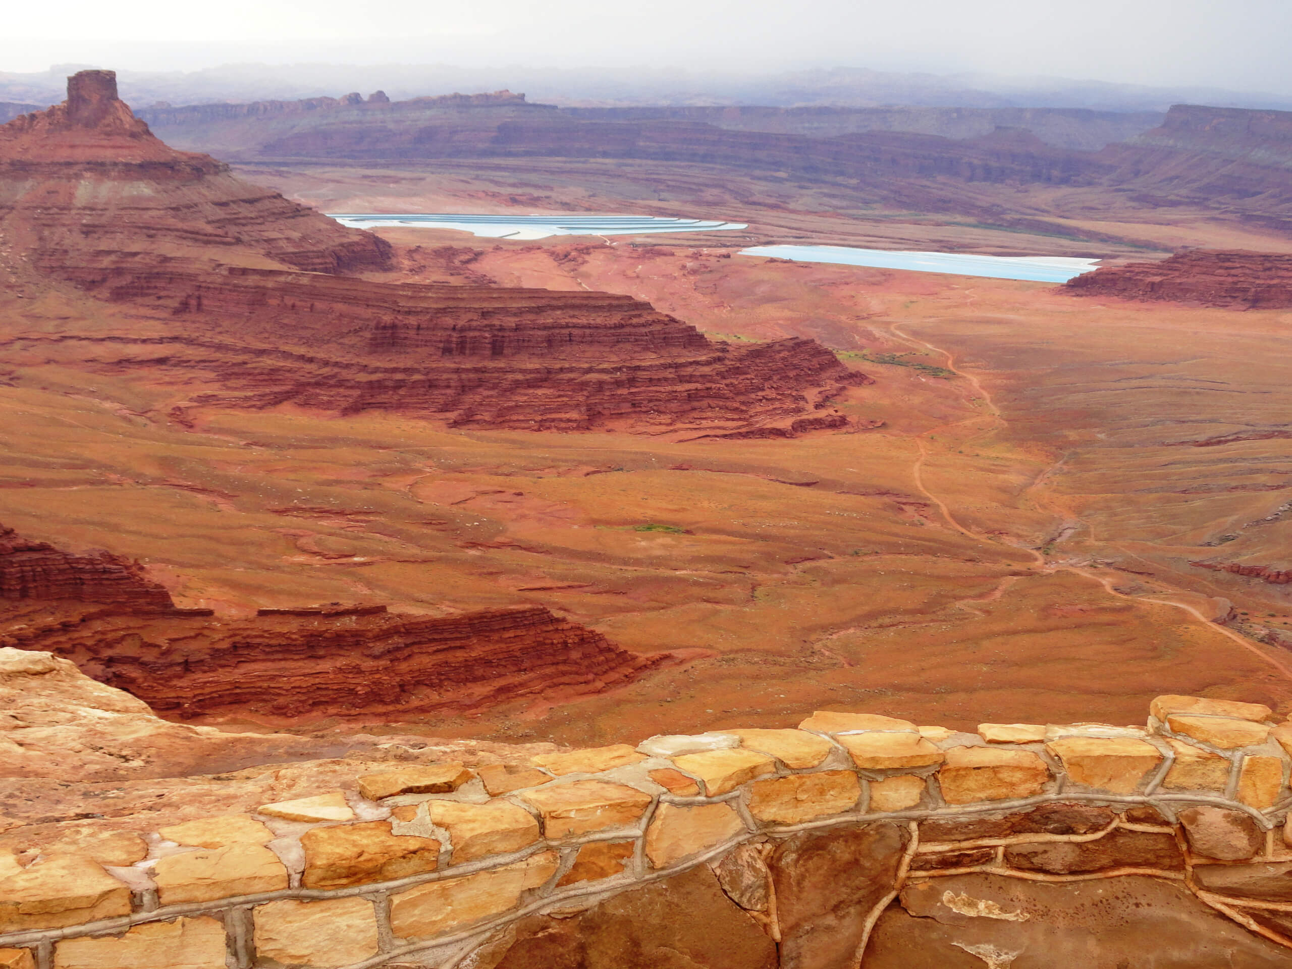
<path id="1" fill-rule="evenodd" d="M 335 889 L 391 881 L 435 871 L 439 842 L 416 835 L 391 835 L 389 820 L 311 828 L 301 835 L 309 889 Z"/>

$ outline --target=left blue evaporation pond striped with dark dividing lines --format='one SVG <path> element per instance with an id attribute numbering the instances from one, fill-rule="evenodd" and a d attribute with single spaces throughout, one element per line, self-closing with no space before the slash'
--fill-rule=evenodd
<path id="1" fill-rule="evenodd" d="M 545 239 L 549 235 L 646 235 L 659 233 L 713 233 L 748 229 L 744 222 L 714 222 L 704 218 L 662 216 L 469 216 L 469 214 L 380 214 L 329 212 L 329 217 L 355 229 L 412 226 L 456 229 L 490 239 Z"/>

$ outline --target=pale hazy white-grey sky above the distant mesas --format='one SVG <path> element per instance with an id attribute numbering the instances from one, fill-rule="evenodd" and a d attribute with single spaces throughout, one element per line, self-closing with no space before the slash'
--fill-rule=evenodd
<path id="1" fill-rule="evenodd" d="M 1289 45 L 1292 0 L 62 0 L 6 5 L 0 71 L 845 66 L 1292 94 Z"/>

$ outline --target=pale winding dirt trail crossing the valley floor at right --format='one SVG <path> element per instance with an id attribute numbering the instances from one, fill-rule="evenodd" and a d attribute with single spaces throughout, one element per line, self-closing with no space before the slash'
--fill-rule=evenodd
<path id="1" fill-rule="evenodd" d="M 986 407 L 987 413 L 985 416 L 990 416 L 992 419 L 991 428 L 985 429 L 985 432 L 983 432 L 985 434 L 990 434 L 990 433 L 992 433 L 995 430 L 999 430 L 1000 428 L 1004 428 L 1006 425 L 1006 420 L 1005 420 L 1004 415 L 1001 413 L 1000 408 L 996 406 L 996 402 L 992 399 L 992 397 L 987 391 L 987 389 L 982 385 L 982 382 L 978 380 L 978 377 L 975 375 L 973 375 L 973 373 L 970 373 L 968 371 L 960 370 L 956 366 L 955 355 L 950 350 L 944 350 L 943 348 L 935 346 L 934 344 L 930 344 L 926 340 L 921 340 L 920 337 L 911 336 L 910 333 L 906 333 L 904 331 L 901 329 L 901 324 L 899 323 L 891 323 L 889 326 L 889 329 L 893 332 L 893 335 L 898 340 L 902 340 L 903 342 L 907 342 L 907 344 L 911 344 L 911 345 L 922 346 L 926 350 L 930 350 L 930 351 L 933 351 L 933 353 L 943 357 L 946 359 L 946 364 L 944 364 L 946 370 L 948 370 L 952 373 L 955 373 L 956 376 L 964 379 L 965 382 L 968 382 L 974 389 L 977 399 L 982 401 L 982 403 Z M 929 487 L 924 482 L 924 463 L 925 463 L 925 460 L 929 456 L 928 438 L 930 438 L 934 433 L 943 432 L 943 430 L 950 429 L 950 428 L 961 426 L 961 425 L 965 425 L 965 424 L 973 424 L 974 421 L 978 421 L 978 420 L 982 420 L 982 417 L 977 417 L 977 416 L 975 417 L 968 417 L 968 419 L 965 419 L 963 421 L 953 421 L 951 424 L 942 424 L 942 425 L 939 425 L 937 428 L 932 428 L 932 429 L 924 432 L 922 434 L 920 434 L 916 438 L 916 444 L 920 448 L 920 453 L 915 459 L 915 461 L 912 463 L 911 477 L 912 477 L 912 479 L 915 482 L 916 488 L 920 491 L 920 494 L 922 494 L 925 497 L 929 499 L 929 501 L 932 501 L 934 505 L 937 505 L 938 510 L 942 513 L 942 517 L 946 519 L 947 525 L 950 525 L 952 528 L 955 528 L 956 531 L 959 531 L 961 535 L 972 537 L 972 539 L 974 539 L 977 541 L 988 541 L 988 543 L 992 543 L 995 545 L 1009 545 L 1009 548 L 1019 548 L 1017 545 L 1012 545 L 1009 543 L 1004 543 L 1000 539 L 994 537 L 991 535 L 983 535 L 983 534 L 974 532 L 974 531 L 966 528 L 964 525 L 961 525 L 959 521 L 956 521 L 955 516 L 951 513 L 951 509 L 947 506 L 947 504 L 938 495 L 935 495 L 932 490 L 929 490 Z M 1036 490 L 1039 486 L 1041 486 L 1049 477 L 1052 477 L 1054 473 L 1058 472 L 1058 469 L 1062 466 L 1062 464 L 1065 461 L 1067 461 L 1068 457 L 1070 457 L 1070 453 L 1065 453 L 1062 457 L 1059 457 L 1058 461 L 1056 461 L 1053 465 L 1050 465 L 1044 473 L 1041 473 L 1036 478 L 1035 482 L 1032 482 L 1027 487 L 1027 491 L 1031 492 L 1031 491 Z M 1065 527 L 1070 527 L 1070 525 L 1071 525 L 1070 522 L 1066 522 Z M 1189 616 L 1191 616 L 1193 619 L 1198 620 L 1199 623 L 1203 623 L 1209 630 L 1218 632 L 1222 636 L 1226 636 L 1227 638 L 1233 640 L 1236 645 L 1242 646 L 1248 652 L 1251 652 L 1251 654 L 1253 654 L 1256 656 L 1260 656 L 1265 663 L 1267 663 L 1269 665 L 1271 665 L 1275 669 L 1278 669 L 1288 680 L 1292 680 L 1292 664 L 1286 663 L 1282 659 L 1267 654 L 1265 650 L 1262 650 L 1260 646 L 1257 646 L 1255 642 L 1252 642 L 1251 640 L 1248 640 L 1242 633 L 1236 633 L 1233 629 L 1227 629 L 1224 625 L 1220 625 L 1217 623 L 1211 621 L 1205 615 L 1203 615 L 1194 606 L 1190 606 L 1187 602 L 1177 602 L 1174 599 L 1167 599 L 1167 598 L 1155 598 L 1156 594 L 1169 596 L 1171 592 L 1154 593 L 1154 594 L 1130 594 L 1130 593 L 1118 592 L 1118 589 L 1112 585 L 1112 580 L 1109 579 L 1107 576 L 1098 575 L 1098 574 L 1092 572 L 1088 568 L 1083 568 L 1080 566 L 1050 563 L 1050 562 L 1048 562 L 1045 559 L 1045 556 L 1039 549 L 1026 549 L 1026 550 L 1030 552 L 1032 554 L 1034 559 L 1035 559 L 1030 567 L 1034 568 L 1037 575 L 1049 575 L 1049 574 L 1059 572 L 1059 571 L 1072 572 L 1075 575 L 1080 575 L 1080 576 L 1083 576 L 1085 579 L 1089 579 L 1092 581 L 1098 583 L 1099 585 L 1103 587 L 1105 592 L 1107 592 L 1110 596 L 1115 596 L 1118 598 L 1134 599 L 1134 601 L 1142 601 L 1142 602 L 1160 602 L 1164 606 L 1174 606 L 1176 609 L 1182 610 L 1183 612 L 1186 612 Z M 979 597 L 979 598 L 973 598 L 973 599 L 960 599 L 959 602 L 956 602 L 953 605 L 956 607 L 964 609 L 964 610 L 966 610 L 969 612 L 978 612 L 978 610 L 973 609 L 973 606 L 970 603 L 973 603 L 973 602 L 988 602 L 988 601 L 997 599 L 997 598 L 1000 598 L 1004 594 L 1004 592 L 1014 581 L 1017 581 L 1017 576 L 1012 576 L 1006 581 L 1001 583 L 995 590 L 992 590 L 991 593 L 988 593 L 988 596 L 986 596 L 986 597 Z M 1178 592 L 1182 592 L 1182 589 L 1174 589 L 1174 592 L 1178 593 Z"/>

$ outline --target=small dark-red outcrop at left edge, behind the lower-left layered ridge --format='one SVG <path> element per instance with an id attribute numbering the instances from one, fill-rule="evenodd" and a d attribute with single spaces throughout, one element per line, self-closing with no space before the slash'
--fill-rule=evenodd
<path id="1" fill-rule="evenodd" d="M 172 609 L 171 594 L 138 562 L 109 552 L 74 556 L 0 525 L 0 599 L 74 599 L 129 610 Z"/>

